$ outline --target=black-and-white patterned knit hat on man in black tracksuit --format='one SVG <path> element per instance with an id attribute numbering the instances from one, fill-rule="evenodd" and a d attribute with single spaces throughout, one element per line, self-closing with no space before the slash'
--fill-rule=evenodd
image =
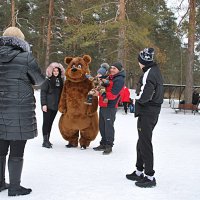
<path id="1" fill-rule="evenodd" d="M 145 48 L 143 51 L 140 51 L 138 55 L 138 61 L 142 65 L 148 65 L 153 62 L 154 49 Z"/>

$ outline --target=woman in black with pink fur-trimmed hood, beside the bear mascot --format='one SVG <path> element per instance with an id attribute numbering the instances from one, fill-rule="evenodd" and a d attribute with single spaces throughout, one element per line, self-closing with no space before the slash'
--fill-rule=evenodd
<path id="1" fill-rule="evenodd" d="M 41 106 L 43 111 L 43 144 L 45 148 L 52 148 L 49 141 L 53 121 L 58 112 L 58 103 L 63 88 L 65 70 L 60 63 L 51 63 L 46 70 L 47 78 L 41 88 Z"/>

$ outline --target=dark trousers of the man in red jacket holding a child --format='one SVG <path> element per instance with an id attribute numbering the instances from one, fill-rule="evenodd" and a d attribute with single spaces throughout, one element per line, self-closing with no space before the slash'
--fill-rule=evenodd
<path id="1" fill-rule="evenodd" d="M 114 122 L 117 108 L 100 107 L 99 110 L 99 130 L 102 145 L 113 146 L 115 138 Z"/>

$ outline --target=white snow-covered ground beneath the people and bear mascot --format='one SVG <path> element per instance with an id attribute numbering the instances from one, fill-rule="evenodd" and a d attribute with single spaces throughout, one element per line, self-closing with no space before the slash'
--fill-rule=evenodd
<path id="1" fill-rule="evenodd" d="M 200 199 L 200 115 L 175 114 L 166 101 L 154 130 L 155 188 L 138 188 L 125 178 L 135 169 L 137 142 L 133 114 L 117 112 L 113 153 L 102 155 L 92 148 L 67 149 L 59 129 L 59 114 L 53 125 L 53 149 L 42 148 L 42 111 L 39 91 L 37 119 L 39 136 L 29 140 L 25 150 L 22 185 L 33 192 L 15 199 L 28 200 L 199 200 Z M 6 172 L 8 180 L 8 173 Z M 7 191 L 0 199 L 7 199 Z"/>

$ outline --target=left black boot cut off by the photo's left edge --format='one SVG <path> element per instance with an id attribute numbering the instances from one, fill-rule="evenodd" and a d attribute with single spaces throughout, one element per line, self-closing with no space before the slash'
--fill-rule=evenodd
<path id="1" fill-rule="evenodd" d="M 8 189 L 9 185 L 5 182 L 6 156 L 0 156 L 0 192 Z"/>

